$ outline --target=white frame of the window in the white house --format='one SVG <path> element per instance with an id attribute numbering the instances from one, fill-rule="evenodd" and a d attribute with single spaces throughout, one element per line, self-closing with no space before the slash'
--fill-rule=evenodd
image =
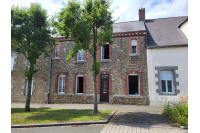
<path id="1" fill-rule="evenodd" d="M 171 79 L 163 79 L 163 77 L 161 76 L 161 73 L 162 72 L 170 72 L 171 73 Z M 162 89 L 162 81 L 165 81 L 165 87 L 166 87 L 166 92 L 163 92 L 163 89 Z M 171 81 L 172 83 L 172 92 L 169 92 L 169 88 L 168 88 L 168 83 L 167 81 Z M 160 71 L 160 86 L 161 86 L 161 93 L 162 94 L 174 94 L 174 84 L 173 84 L 173 72 L 172 71 Z"/>

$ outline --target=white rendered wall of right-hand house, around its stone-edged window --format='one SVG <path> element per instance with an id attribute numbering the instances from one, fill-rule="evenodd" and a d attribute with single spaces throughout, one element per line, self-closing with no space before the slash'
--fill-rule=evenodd
<path id="1" fill-rule="evenodd" d="M 188 47 L 147 49 L 147 64 L 150 105 L 162 106 L 165 101 L 178 101 L 181 96 L 188 96 Z M 155 77 L 156 66 L 178 66 L 178 70 L 175 72 L 178 74 L 176 82 L 179 82 L 177 90 L 180 90 L 180 94 L 166 96 L 156 93 L 156 89 L 158 89 L 158 85 L 156 85 L 158 78 Z"/>

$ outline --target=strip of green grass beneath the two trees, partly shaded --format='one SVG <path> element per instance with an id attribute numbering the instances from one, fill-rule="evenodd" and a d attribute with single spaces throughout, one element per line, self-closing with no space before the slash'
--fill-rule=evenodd
<path id="1" fill-rule="evenodd" d="M 97 114 L 93 114 L 93 110 L 36 108 L 24 112 L 23 108 L 11 108 L 11 125 L 102 121 L 106 120 L 111 113 L 110 110 L 99 110 Z"/>

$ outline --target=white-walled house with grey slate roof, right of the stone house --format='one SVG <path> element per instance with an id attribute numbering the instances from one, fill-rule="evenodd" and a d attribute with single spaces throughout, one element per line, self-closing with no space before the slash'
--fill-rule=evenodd
<path id="1" fill-rule="evenodd" d="M 188 96 L 188 17 L 145 21 L 150 105 Z"/>

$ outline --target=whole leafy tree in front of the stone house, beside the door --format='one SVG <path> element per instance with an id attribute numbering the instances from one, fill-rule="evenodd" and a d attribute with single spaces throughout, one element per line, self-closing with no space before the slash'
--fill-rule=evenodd
<path id="1" fill-rule="evenodd" d="M 112 43 L 114 21 L 109 10 L 111 2 L 108 0 L 86 0 L 84 3 L 75 0 L 68 1 L 67 7 L 62 8 L 54 21 L 60 35 L 71 36 L 75 45 L 67 56 L 72 59 L 78 50 L 87 50 L 93 56 L 91 74 L 94 82 L 94 113 L 97 108 L 97 75 L 100 72 L 100 61 L 97 51 L 106 43 Z"/>

